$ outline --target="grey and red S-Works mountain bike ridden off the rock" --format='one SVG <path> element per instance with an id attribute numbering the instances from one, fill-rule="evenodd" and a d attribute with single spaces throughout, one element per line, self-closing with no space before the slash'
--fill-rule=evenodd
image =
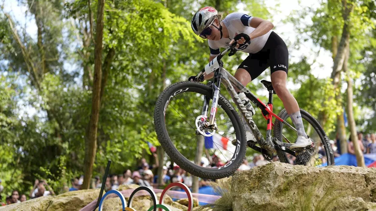
<path id="1" fill-rule="evenodd" d="M 233 51 L 235 45 L 236 42 L 209 62 L 197 74 L 195 81 L 174 83 L 159 95 L 154 111 L 155 130 L 171 160 L 192 175 L 207 179 L 232 175 L 242 164 L 247 146 L 260 152 L 267 161 L 274 160 L 277 155 L 279 161 L 285 163 L 333 165 L 334 156 L 328 137 L 318 121 L 303 109 L 300 109 L 303 124 L 313 144 L 306 148 L 289 149 L 297 138 L 297 131 L 285 109 L 278 115 L 273 113 L 275 92 L 271 82 L 261 81 L 269 92 L 269 100 L 265 104 L 223 68 L 222 57 L 228 51 Z M 204 72 L 214 72 L 213 80 L 206 85 L 200 83 Z M 222 84 L 238 111 L 220 93 Z M 234 87 L 244 92 L 261 110 L 267 121 L 266 139 Z M 246 140 L 244 121 L 238 112 L 246 120 L 256 140 Z M 201 150 L 204 149 L 203 145 L 205 151 Z"/>

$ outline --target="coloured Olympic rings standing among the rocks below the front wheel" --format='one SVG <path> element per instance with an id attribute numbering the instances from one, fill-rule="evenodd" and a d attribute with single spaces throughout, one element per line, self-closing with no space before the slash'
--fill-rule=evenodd
<path id="1" fill-rule="evenodd" d="M 149 192 L 150 196 L 152 196 L 152 201 L 153 201 L 154 205 L 152 207 L 150 207 L 148 209 L 148 211 L 157 211 L 157 208 L 159 208 L 159 211 L 162 211 L 162 209 L 165 210 L 165 211 L 171 211 L 170 208 L 168 208 L 167 206 L 165 206 L 163 204 L 163 201 L 164 201 L 164 197 L 166 195 L 166 192 L 169 191 L 173 187 L 180 187 L 185 191 L 185 193 L 188 196 L 188 211 L 191 211 L 192 208 L 193 208 L 192 193 L 191 193 L 190 189 L 185 184 L 183 184 L 181 182 L 173 182 L 173 183 L 167 185 L 167 187 L 162 191 L 161 198 L 159 199 L 159 204 L 157 204 L 157 196 L 155 195 L 155 192 L 149 187 L 138 187 L 138 188 L 136 188 L 132 192 L 132 194 L 130 194 L 128 203 L 126 202 L 123 194 L 120 191 L 110 190 L 100 200 L 98 211 L 102 211 L 103 202 L 109 194 L 116 194 L 120 198 L 121 205 L 123 206 L 123 208 L 121 209 L 122 211 L 136 211 L 135 209 L 132 208 L 132 202 L 133 202 L 133 198 L 134 198 L 133 196 L 135 196 L 135 194 L 140 190 L 146 190 L 147 192 Z M 126 204 L 127 204 L 127 206 L 126 206 Z"/>

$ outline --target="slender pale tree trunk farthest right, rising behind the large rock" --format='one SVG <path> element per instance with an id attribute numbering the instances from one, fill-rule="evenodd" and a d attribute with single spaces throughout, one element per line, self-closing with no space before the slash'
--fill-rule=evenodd
<path id="1" fill-rule="evenodd" d="M 353 113 L 353 89 L 352 89 L 352 78 L 350 77 L 350 73 L 347 70 L 347 60 L 349 58 L 349 52 L 347 52 L 345 63 L 344 63 L 344 71 L 347 73 L 347 115 L 349 119 L 349 126 L 351 132 L 351 141 L 353 142 L 354 152 L 356 156 L 356 163 L 358 166 L 365 167 L 363 152 L 359 146 L 358 136 L 356 134 L 356 125 Z"/>

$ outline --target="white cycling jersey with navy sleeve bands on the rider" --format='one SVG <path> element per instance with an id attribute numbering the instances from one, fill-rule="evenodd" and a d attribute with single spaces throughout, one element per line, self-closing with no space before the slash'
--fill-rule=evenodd
<path id="1" fill-rule="evenodd" d="M 252 16 L 249 16 L 241 12 L 234 12 L 234 13 L 227 15 L 226 18 L 224 18 L 222 22 L 226 26 L 229 32 L 229 38 L 222 37 L 222 39 L 218 41 L 208 40 L 208 44 L 210 48 L 210 56 L 217 56 L 220 53 L 219 48 L 228 47 L 230 41 L 236 35 L 240 33 L 249 35 L 251 32 L 253 32 L 255 28 L 250 26 L 252 18 L 253 18 Z M 259 36 L 258 38 L 253 39 L 250 44 L 248 43 L 240 44 L 239 48 L 236 48 L 236 49 L 246 52 L 246 53 L 257 53 L 264 47 L 271 32 L 272 30 L 267 32 L 265 35 L 262 35 L 262 36 Z"/>

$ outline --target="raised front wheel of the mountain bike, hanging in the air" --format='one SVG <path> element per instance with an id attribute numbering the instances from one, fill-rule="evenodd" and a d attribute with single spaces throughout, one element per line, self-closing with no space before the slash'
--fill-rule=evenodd
<path id="1" fill-rule="evenodd" d="M 212 88 L 205 84 L 172 84 L 156 102 L 154 124 L 158 140 L 173 162 L 195 176 L 220 179 L 238 169 L 247 143 L 238 113 L 222 95 L 215 116 L 217 128 L 203 127 L 207 118 L 202 116 L 204 101 L 208 101 L 210 110 L 212 96 Z"/>

